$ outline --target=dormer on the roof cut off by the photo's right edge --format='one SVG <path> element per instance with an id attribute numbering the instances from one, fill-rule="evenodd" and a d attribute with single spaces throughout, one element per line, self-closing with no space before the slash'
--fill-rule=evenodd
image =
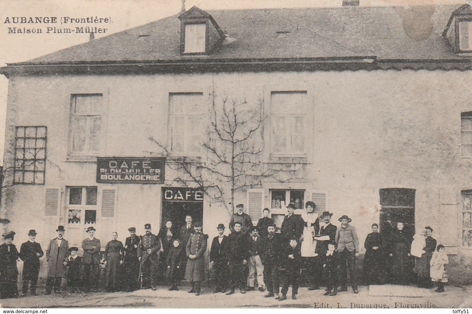
<path id="1" fill-rule="evenodd" d="M 464 4 L 455 10 L 443 36 L 445 36 L 456 53 L 472 52 L 472 8 Z"/>

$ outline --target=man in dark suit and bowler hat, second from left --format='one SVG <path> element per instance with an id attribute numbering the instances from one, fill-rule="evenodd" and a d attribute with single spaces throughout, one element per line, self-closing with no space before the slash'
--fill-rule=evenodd
<path id="1" fill-rule="evenodd" d="M 26 297 L 28 284 L 31 281 L 31 295 L 37 296 L 36 284 L 39 275 L 39 259 L 44 255 L 41 244 L 34 242 L 36 239 L 36 230 L 31 229 L 28 232 L 29 240 L 20 247 L 20 258 L 23 260 L 23 289 L 21 296 Z"/>

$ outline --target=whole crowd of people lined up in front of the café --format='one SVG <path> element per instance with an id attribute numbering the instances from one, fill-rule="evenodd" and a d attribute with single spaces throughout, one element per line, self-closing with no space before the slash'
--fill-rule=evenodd
<path id="1" fill-rule="evenodd" d="M 356 229 L 347 215 L 341 216 L 341 226 L 331 224 L 332 213 L 317 214 L 313 202 L 306 202 L 306 211 L 295 214 L 295 205 L 288 204 L 280 232 L 269 218 L 265 208 L 263 217 L 254 226 L 249 215 L 244 213 L 244 205 L 236 206 L 229 221 L 231 230 L 226 236 L 225 226 L 217 226 L 218 236 L 213 238 L 210 263 L 214 274 L 213 293 L 227 295 L 239 289 L 246 291 L 267 290 L 265 297 L 275 297 L 283 301 L 292 286 L 292 299 L 296 299 L 301 273 L 308 290 L 326 287 L 325 295 L 336 296 L 347 291 L 348 278 L 354 293 L 358 293 L 356 257 L 359 254 L 359 239 Z M 48 275 L 46 295 L 61 293 L 61 282 L 67 274 L 70 292 L 83 289 L 84 292 L 98 291 L 100 263 L 106 268 L 106 289 L 108 292 L 136 289 L 157 289 L 158 280 L 167 278 L 169 290 L 178 290 L 182 279 L 188 280 L 192 288 L 189 292 L 200 295 L 204 280 L 204 253 L 208 236 L 202 233 L 202 223 L 185 217 L 185 225 L 175 229 L 173 221 L 165 221 L 158 235 L 152 234 L 150 224 L 144 225 L 145 234 L 136 236 L 136 229 L 129 228 L 130 237 L 125 245 L 118 241 L 118 233 L 113 232 L 112 240 L 101 253 L 100 240 L 94 237 L 95 229 L 87 229 L 88 237 L 82 241 L 83 256 L 77 255 L 78 247 L 69 247 L 63 238 L 65 229 L 56 229 L 57 237 L 51 239 L 46 250 Z M 436 246 L 431 237 L 433 229 L 426 227 L 414 236 L 413 242 L 398 222 L 386 243 L 379 234 L 379 226 L 372 225 L 372 232 L 365 239 L 363 277 L 367 284 L 382 284 L 387 281 L 405 284 L 408 276 L 408 261 L 415 258 L 413 271 L 417 275 L 418 286 L 430 288 L 437 282 L 436 291 L 444 291 L 447 282 L 445 264 L 448 263 L 445 248 Z M 29 240 L 21 245 L 20 252 L 12 244 L 15 232 L 3 234 L 5 243 L 0 246 L 0 297 L 18 297 L 17 261 L 24 261 L 23 289 L 26 296 L 36 294 L 41 245 L 35 242 L 35 230 L 28 232 Z M 386 258 L 390 256 L 387 265 Z M 68 267 L 68 269 L 67 269 Z M 66 271 L 67 270 L 67 271 Z M 387 270 L 390 270 L 388 272 Z M 257 287 L 256 287 L 257 282 Z M 280 291 L 280 283 L 282 289 Z M 340 289 L 338 287 L 340 286 Z M 281 292 L 281 296 L 279 295 Z"/>

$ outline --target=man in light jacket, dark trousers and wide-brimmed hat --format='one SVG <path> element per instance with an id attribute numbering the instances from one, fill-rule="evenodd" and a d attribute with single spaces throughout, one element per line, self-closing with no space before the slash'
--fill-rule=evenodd
<path id="1" fill-rule="evenodd" d="M 341 221 L 341 227 L 337 228 L 335 237 L 340 264 L 339 281 L 341 281 L 341 289 L 339 291 L 347 291 L 347 272 L 349 272 L 353 292 L 358 293 L 355 258 L 359 255 L 359 238 L 357 238 L 355 228 L 349 224 L 352 221 L 351 218 L 343 215 L 339 218 L 339 221 Z"/>

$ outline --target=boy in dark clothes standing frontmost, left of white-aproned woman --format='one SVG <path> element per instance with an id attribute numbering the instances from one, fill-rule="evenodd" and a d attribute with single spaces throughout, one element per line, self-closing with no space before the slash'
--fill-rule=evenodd
<path id="1" fill-rule="evenodd" d="M 296 300 L 300 278 L 302 254 L 296 238 L 291 238 L 283 255 L 281 266 L 285 267 L 284 283 L 282 286 L 282 296 L 279 301 L 287 300 L 288 287 L 292 284 L 292 299 Z"/>

